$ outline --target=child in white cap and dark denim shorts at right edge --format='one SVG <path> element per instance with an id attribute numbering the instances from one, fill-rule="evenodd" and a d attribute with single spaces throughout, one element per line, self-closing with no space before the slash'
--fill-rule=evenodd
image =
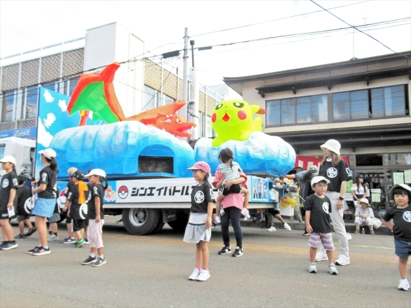
<path id="1" fill-rule="evenodd" d="M 411 188 L 406 184 L 395 184 L 389 190 L 389 197 L 395 206 L 388 208 L 382 223 L 394 233 L 395 254 L 398 256 L 398 268 L 401 280 L 399 290 L 408 291 L 407 262 L 411 255 Z M 394 226 L 388 221 L 394 220 Z"/>

